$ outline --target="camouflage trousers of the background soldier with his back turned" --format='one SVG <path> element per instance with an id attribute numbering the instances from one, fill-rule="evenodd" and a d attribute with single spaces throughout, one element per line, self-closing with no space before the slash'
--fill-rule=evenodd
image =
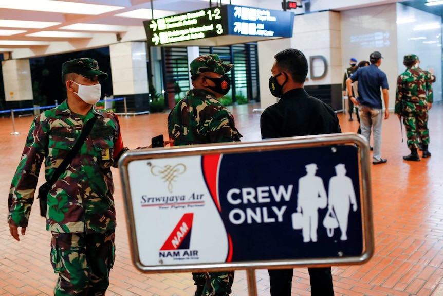
<path id="1" fill-rule="evenodd" d="M 408 137 L 408 148 L 418 148 L 418 137 L 423 145 L 429 145 L 428 110 L 403 114 L 403 124 Z"/>

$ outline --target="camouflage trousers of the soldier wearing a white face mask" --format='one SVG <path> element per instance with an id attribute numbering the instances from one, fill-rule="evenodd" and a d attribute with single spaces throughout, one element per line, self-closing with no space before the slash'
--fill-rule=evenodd
<path id="1" fill-rule="evenodd" d="M 55 296 L 102 296 L 115 258 L 115 230 L 104 233 L 52 232 L 51 264 L 59 278 Z"/>

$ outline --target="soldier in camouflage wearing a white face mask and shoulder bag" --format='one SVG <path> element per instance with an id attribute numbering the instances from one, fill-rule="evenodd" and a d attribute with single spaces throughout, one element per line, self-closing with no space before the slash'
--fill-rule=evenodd
<path id="1" fill-rule="evenodd" d="M 80 58 L 63 64 L 67 99 L 35 117 L 12 180 L 8 223 L 11 235 L 25 235 L 42 163 L 50 180 L 79 137 L 97 116 L 85 143 L 52 185 L 47 196 L 46 230 L 51 231 L 51 264 L 59 278 L 55 296 L 104 295 L 114 264 L 116 211 L 110 167 L 123 146 L 117 116 L 94 105 L 99 80 L 107 74 L 97 61 Z"/>

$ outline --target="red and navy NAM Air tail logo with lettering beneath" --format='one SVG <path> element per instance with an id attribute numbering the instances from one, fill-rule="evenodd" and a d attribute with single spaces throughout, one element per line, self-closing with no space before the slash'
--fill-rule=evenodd
<path id="1" fill-rule="evenodd" d="M 194 213 L 186 213 L 181 217 L 168 239 L 163 243 L 159 252 L 160 258 L 198 259 L 198 251 L 189 250 L 193 218 Z"/>

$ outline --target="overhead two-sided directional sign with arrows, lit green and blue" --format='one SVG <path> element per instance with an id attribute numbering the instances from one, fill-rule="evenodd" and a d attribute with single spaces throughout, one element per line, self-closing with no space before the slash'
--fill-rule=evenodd
<path id="1" fill-rule="evenodd" d="M 193 45 L 193 41 L 229 35 L 254 38 L 247 40 L 225 38 L 223 41 L 235 44 L 269 38 L 292 37 L 293 18 L 294 14 L 286 11 L 223 5 L 148 20 L 143 24 L 147 42 L 151 46 L 164 46 L 179 42 Z"/>

